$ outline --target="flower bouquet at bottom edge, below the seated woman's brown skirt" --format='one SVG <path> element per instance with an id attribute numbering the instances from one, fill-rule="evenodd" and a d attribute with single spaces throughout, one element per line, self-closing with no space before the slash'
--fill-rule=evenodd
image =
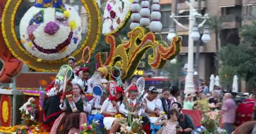
<path id="1" fill-rule="evenodd" d="M 86 123 L 81 125 L 80 127 L 80 133 L 79 134 L 96 134 L 96 127 L 99 125 L 98 123 L 99 121 L 94 121 L 92 122 L 92 124 L 87 125 Z M 77 133 L 76 133 L 77 134 Z"/>

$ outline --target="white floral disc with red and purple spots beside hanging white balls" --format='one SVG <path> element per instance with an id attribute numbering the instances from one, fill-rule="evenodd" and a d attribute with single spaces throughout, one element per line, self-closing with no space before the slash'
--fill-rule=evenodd
<path id="1" fill-rule="evenodd" d="M 108 0 L 104 10 L 102 33 L 110 35 L 118 32 L 131 15 L 132 0 Z"/>

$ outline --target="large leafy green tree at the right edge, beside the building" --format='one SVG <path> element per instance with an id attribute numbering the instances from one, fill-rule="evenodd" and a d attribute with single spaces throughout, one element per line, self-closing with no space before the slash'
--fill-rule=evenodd
<path id="1" fill-rule="evenodd" d="M 232 67 L 239 77 L 256 88 L 256 23 L 244 25 L 239 33 L 240 44 L 223 47 L 218 56 L 224 67 Z"/>

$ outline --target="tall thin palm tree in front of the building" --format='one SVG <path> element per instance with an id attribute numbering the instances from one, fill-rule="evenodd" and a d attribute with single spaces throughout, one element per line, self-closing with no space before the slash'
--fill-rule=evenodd
<path id="1" fill-rule="evenodd" d="M 222 22 L 223 22 L 223 18 L 221 16 L 211 16 L 208 19 L 208 25 L 209 28 L 215 33 L 215 44 L 216 44 L 216 53 L 215 53 L 215 57 L 216 57 L 216 72 L 215 74 L 218 75 L 219 74 L 219 59 L 217 58 L 217 52 L 219 51 L 219 32 L 223 29 L 222 26 Z"/>

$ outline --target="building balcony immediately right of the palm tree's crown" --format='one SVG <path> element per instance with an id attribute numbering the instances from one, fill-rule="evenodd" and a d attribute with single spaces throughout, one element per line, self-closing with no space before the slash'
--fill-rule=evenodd
<path id="1" fill-rule="evenodd" d="M 239 15 L 224 15 L 222 17 L 222 26 L 224 29 L 240 28 L 242 19 Z"/>

